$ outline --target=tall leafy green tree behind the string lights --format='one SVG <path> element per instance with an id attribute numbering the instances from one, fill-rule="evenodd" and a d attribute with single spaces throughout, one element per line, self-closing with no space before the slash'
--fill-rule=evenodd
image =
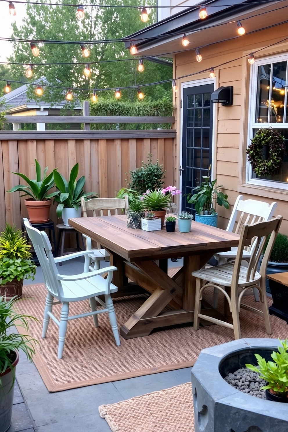
<path id="1" fill-rule="evenodd" d="M 96 0 L 92 0 L 96 3 Z M 114 5 L 123 5 L 120 0 L 115 0 Z M 71 4 L 73 4 L 71 2 Z M 109 4 L 104 0 L 103 4 Z M 137 0 L 127 0 L 127 5 L 139 6 Z M 18 28 L 13 25 L 13 37 L 25 40 L 57 40 L 57 41 L 92 41 L 86 44 L 90 50 L 90 56 L 85 59 L 82 56 L 80 44 L 38 44 L 39 57 L 33 57 L 28 42 L 15 42 L 14 54 L 9 58 L 11 62 L 21 64 L 33 64 L 32 82 L 39 81 L 52 86 L 65 88 L 77 87 L 78 97 L 90 98 L 91 90 L 94 88 L 115 88 L 123 86 L 136 86 L 143 83 L 156 82 L 172 78 L 172 68 L 144 60 L 145 70 L 139 73 L 137 70 L 138 60 L 91 64 L 91 76 L 86 78 L 83 74 L 85 62 L 103 60 L 117 60 L 131 58 L 129 50 L 124 48 L 123 42 L 95 43 L 95 40 L 120 39 L 134 33 L 144 27 L 140 20 L 140 11 L 136 8 L 99 8 L 96 6 L 85 7 L 85 18 L 82 22 L 76 19 L 76 8 L 65 6 L 44 6 L 27 3 L 26 17 L 23 24 Z M 155 11 L 150 13 L 151 24 L 155 20 Z M 41 66 L 37 64 L 42 63 Z M 47 63 L 73 63 L 55 66 L 43 65 Z M 23 75 L 23 67 L 11 65 L 13 79 L 18 80 Z M 12 78 L 11 78 L 12 79 Z M 35 98 L 32 93 L 31 97 Z M 42 100 L 47 102 L 60 102 L 63 100 L 63 89 L 44 88 Z M 150 98 L 171 98 L 171 83 L 162 86 L 145 87 L 142 91 Z M 133 100 L 136 98 L 136 89 L 128 89 L 122 92 L 125 98 Z M 104 92 L 111 97 L 111 92 Z M 33 96 L 32 96 L 33 95 Z"/>

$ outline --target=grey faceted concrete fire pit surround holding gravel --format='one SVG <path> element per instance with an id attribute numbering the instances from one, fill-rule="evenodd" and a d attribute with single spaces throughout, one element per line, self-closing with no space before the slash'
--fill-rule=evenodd
<path id="1" fill-rule="evenodd" d="M 278 339 L 239 339 L 203 349 L 192 368 L 195 432 L 287 432 L 288 404 L 245 394 L 224 378 L 255 353 L 271 360 Z"/>

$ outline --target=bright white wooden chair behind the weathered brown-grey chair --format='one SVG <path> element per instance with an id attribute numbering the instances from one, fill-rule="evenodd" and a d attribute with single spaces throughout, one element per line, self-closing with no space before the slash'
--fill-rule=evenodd
<path id="1" fill-rule="evenodd" d="M 231 217 L 228 222 L 226 231 L 240 233 L 242 225 L 251 225 L 255 222 L 262 222 L 269 220 L 274 215 L 277 203 L 271 204 L 258 200 L 244 200 L 243 195 L 238 195 Z M 246 246 L 243 250 L 243 260 L 249 262 L 256 242 L 252 240 L 250 246 Z M 218 265 L 225 264 L 227 261 L 235 260 L 237 254 L 237 247 L 231 248 L 231 251 L 218 252 L 214 258 L 218 261 Z M 256 289 L 253 290 L 256 302 L 259 302 L 259 295 Z M 215 289 L 213 297 L 213 308 L 218 304 L 218 291 Z"/>

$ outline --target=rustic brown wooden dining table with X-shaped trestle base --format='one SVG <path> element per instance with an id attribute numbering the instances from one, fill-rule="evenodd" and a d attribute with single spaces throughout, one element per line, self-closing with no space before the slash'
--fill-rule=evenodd
<path id="1" fill-rule="evenodd" d="M 237 246 L 233 232 L 192 221 L 190 232 L 166 232 L 127 228 L 125 215 L 69 219 L 82 234 L 97 241 L 110 254 L 117 296 L 150 293 L 140 308 L 120 329 L 124 339 L 146 336 L 154 328 L 193 322 L 195 304 L 194 270 L 202 268 L 215 252 Z M 168 276 L 168 258 L 183 257 L 181 267 Z M 128 280 L 132 281 L 129 282 Z M 205 314 L 217 312 L 209 305 Z"/>

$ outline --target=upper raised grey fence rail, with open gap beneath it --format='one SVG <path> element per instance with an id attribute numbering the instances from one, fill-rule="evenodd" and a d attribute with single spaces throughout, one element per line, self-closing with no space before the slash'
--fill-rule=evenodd
<path id="1" fill-rule="evenodd" d="M 175 117 L 6 115 L 5 123 L 174 123 Z"/>

